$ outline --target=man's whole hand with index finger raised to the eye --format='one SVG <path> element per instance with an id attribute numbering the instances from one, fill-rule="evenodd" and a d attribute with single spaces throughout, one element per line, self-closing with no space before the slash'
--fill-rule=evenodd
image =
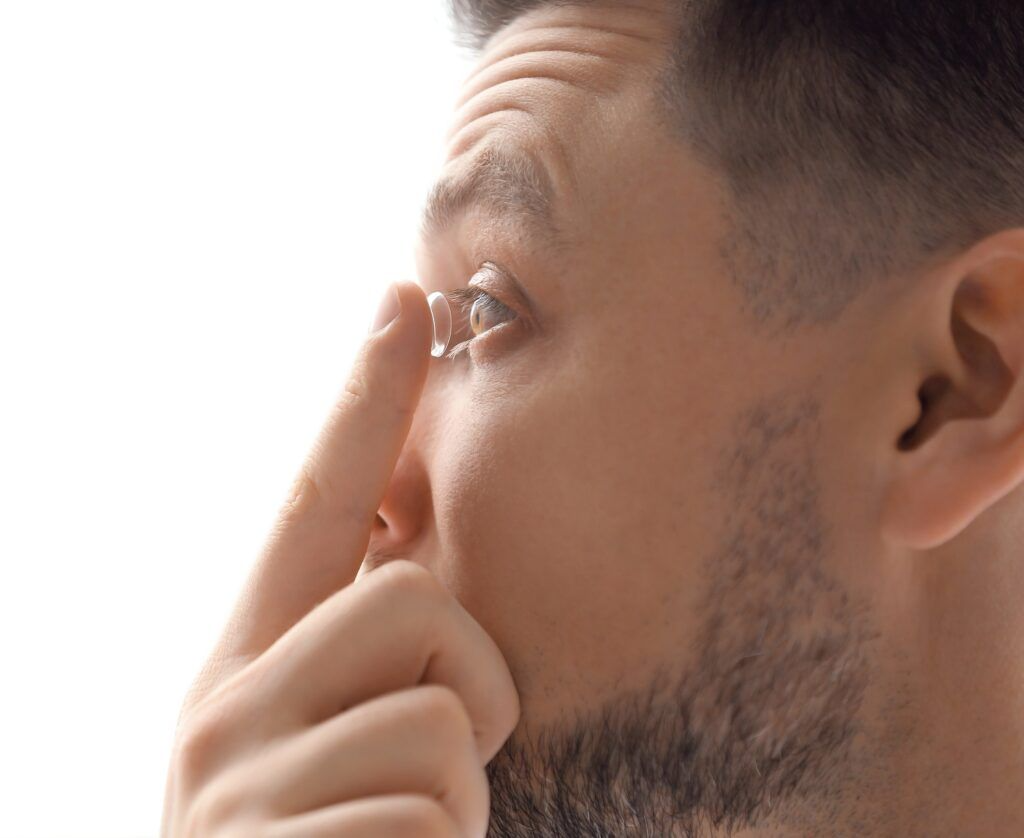
<path id="1" fill-rule="evenodd" d="M 356 583 L 430 361 L 426 297 L 395 288 L 184 701 L 163 838 L 486 833 L 504 658 L 422 567 Z"/>

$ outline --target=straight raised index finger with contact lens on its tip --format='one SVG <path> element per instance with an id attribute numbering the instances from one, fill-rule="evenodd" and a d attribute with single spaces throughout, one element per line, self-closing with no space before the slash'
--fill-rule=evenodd
<path id="1" fill-rule="evenodd" d="M 421 288 L 394 286 L 401 311 L 359 349 L 228 621 L 217 657 L 254 658 L 355 578 L 404 445 L 430 361 Z"/>

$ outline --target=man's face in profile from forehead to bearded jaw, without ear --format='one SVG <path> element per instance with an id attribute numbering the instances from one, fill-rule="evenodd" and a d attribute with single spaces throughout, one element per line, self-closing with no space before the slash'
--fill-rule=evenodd
<path id="1" fill-rule="evenodd" d="M 688 772 L 631 781 L 651 799 L 681 789 L 679 810 L 722 809 L 709 783 L 761 778 L 781 796 L 801 765 L 831 764 L 819 743 L 839 758 L 861 703 L 869 574 L 834 548 L 833 519 L 857 522 L 839 520 L 815 460 L 820 358 L 744 313 L 720 181 L 655 100 L 671 35 L 656 8 L 599 6 L 501 32 L 465 83 L 444 206 L 420 241 L 427 292 L 489 262 L 484 287 L 517 315 L 486 315 L 468 352 L 432 362 L 381 509 L 410 540 L 396 552 L 481 623 L 519 688 L 499 808 L 526 793 L 515 759 L 537 804 L 545 771 L 593 778 L 631 751 L 624 777 L 644 758 Z M 524 155 L 543 169 L 520 183 Z"/>

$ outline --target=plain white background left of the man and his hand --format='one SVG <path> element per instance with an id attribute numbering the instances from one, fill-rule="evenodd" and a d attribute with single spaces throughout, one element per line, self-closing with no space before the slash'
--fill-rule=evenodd
<path id="1" fill-rule="evenodd" d="M 387 283 L 444 0 L 0 0 L 0 835 L 155 836 L 180 702 Z"/>

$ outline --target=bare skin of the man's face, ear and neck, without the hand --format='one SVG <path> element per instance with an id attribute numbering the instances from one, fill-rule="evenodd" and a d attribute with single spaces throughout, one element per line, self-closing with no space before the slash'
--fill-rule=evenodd
<path id="1" fill-rule="evenodd" d="M 584 834 L 583 810 L 628 828 L 621 800 L 567 790 L 669 740 L 728 755 L 687 763 L 705 782 L 776 798 L 732 819 L 707 789 L 677 795 L 694 834 L 1024 834 L 1022 232 L 780 334 L 723 258 L 722 178 L 652 101 L 670 35 L 657 4 L 542 8 L 481 53 L 445 172 L 529 148 L 568 244 L 485 209 L 421 241 L 427 291 L 501 262 L 545 333 L 432 366 L 372 552 L 427 567 L 509 662 L 501 834 Z M 637 731 L 678 707 L 685 734 Z M 761 777 L 766 743 L 803 768 Z M 561 814 L 511 826 L 544 805 Z"/>

